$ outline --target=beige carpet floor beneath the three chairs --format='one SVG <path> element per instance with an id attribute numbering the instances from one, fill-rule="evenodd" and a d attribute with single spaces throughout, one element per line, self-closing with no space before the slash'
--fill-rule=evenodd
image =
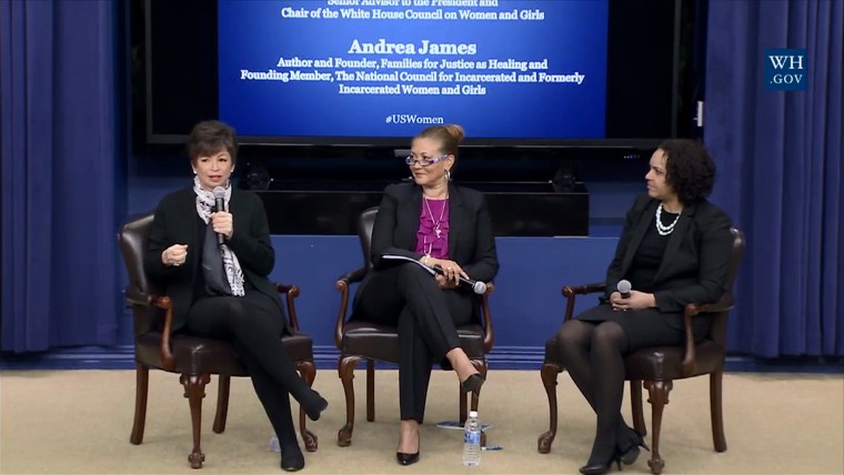
<path id="1" fill-rule="evenodd" d="M 536 452 L 547 428 L 547 400 L 539 372 L 492 371 L 480 414 L 494 424 L 478 468 L 461 464 L 461 432 L 434 423 L 456 418 L 453 373 L 434 372 L 422 427 L 420 463 L 395 463 L 396 372 L 381 371 L 376 421 L 365 421 L 362 371 L 355 378 L 358 424 L 350 447 L 336 445 L 345 416 L 334 371 L 320 371 L 314 386 L 330 401 L 310 427 L 320 448 L 307 453 L 311 474 L 576 474 L 590 449 L 594 416 L 567 375 L 560 380 L 561 422 L 551 454 Z M 665 473 L 842 474 L 844 473 L 844 376 L 730 374 L 724 378 L 729 449 L 715 453 L 709 416 L 707 378 L 677 382 L 663 421 Z M 211 432 L 215 381 L 204 402 L 202 472 L 190 468 L 190 417 L 178 376 L 152 372 L 143 444 L 129 443 L 134 372 L 0 372 L 0 473 L 2 474 L 264 474 L 280 473 L 269 451 L 272 435 L 248 380 L 232 382 L 225 433 Z M 644 393 L 647 394 L 646 392 Z M 629 417 L 625 401 L 625 416 Z M 297 406 L 298 407 L 298 406 Z M 650 407 L 645 408 L 650 427 Z M 649 437 L 650 442 L 650 437 Z M 624 472 L 649 473 L 647 453 Z"/>

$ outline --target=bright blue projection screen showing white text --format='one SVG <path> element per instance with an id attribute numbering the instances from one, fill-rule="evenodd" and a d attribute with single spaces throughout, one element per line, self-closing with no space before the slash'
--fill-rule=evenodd
<path id="1" fill-rule="evenodd" d="M 399 2 L 401 3 L 401 2 Z M 412 117 L 441 118 L 459 123 L 473 139 L 602 139 L 605 134 L 607 1 L 504 1 L 496 8 L 464 8 L 475 12 L 534 10 L 543 20 L 353 20 L 342 17 L 283 18 L 282 9 L 313 11 L 325 0 L 219 0 L 220 119 L 239 135 L 259 138 L 406 138 L 423 127 Z M 360 7 L 371 11 L 372 7 Z M 432 11 L 436 8 L 379 7 L 383 11 Z M 461 8 L 441 8 L 458 11 Z M 351 54 L 353 40 L 376 43 L 474 43 L 473 55 Z M 395 82 L 242 80 L 241 70 L 283 73 L 314 68 L 277 67 L 279 58 L 348 60 L 402 58 L 542 61 L 550 74 L 585 75 L 575 83 L 480 83 L 483 95 L 341 94 L 339 84 L 381 85 Z M 338 68 L 316 68 L 334 77 Z M 352 72 L 354 70 L 349 70 Z M 371 70 L 366 70 L 371 71 Z M 439 70 L 438 70 L 439 71 Z M 380 69 L 386 73 L 391 70 Z M 429 70 L 411 70 L 420 73 Z M 446 71 L 452 73 L 454 71 Z M 461 70 L 464 73 L 510 73 L 511 70 Z M 516 71 L 516 74 L 532 71 Z M 421 87 L 463 87 L 465 83 L 415 83 Z M 468 83 L 474 84 L 474 82 Z"/>

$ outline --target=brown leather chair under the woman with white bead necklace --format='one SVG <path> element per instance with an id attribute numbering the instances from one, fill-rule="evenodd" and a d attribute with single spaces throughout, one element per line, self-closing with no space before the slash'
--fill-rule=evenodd
<path id="1" fill-rule="evenodd" d="M 726 451 L 724 437 L 724 417 L 722 411 L 721 386 L 724 374 L 724 356 L 726 352 L 726 320 L 733 307 L 733 282 L 738 269 L 738 263 L 744 252 L 744 234 L 737 229 L 732 229 L 733 254 L 730 259 L 727 272 L 727 290 L 720 302 L 709 305 L 689 304 L 684 312 L 685 346 L 655 346 L 639 350 L 624 357 L 625 380 L 630 381 L 631 406 L 633 413 L 633 426 L 642 435 L 645 435 L 645 422 L 642 414 L 642 386 L 649 392 L 651 403 L 651 417 L 653 435 L 651 441 L 651 459 L 647 465 L 651 473 L 662 473 L 665 462 L 660 456 L 660 427 L 662 425 L 662 412 L 669 403 L 669 393 L 675 380 L 710 375 L 710 413 L 712 417 L 712 439 L 716 452 Z M 567 299 L 564 321 L 572 319 L 574 313 L 574 299 L 576 295 L 604 292 L 605 284 L 589 284 L 581 286 L 564 286 L 563 295 Z M 701 316 L 711 319 L 709 334 L 699 343 L 694 342 L 692 334 L 692 319 Z M 551 451 L 551 444 L 556 436 L 556 377 L 565 368 L 561 363 L 559 343 L 556 336 L 545 343 L 545 361 L 542 364 L 542 384 L 547 393 L 550 408 L 550 428 L 540 435 L 537 449 L 541 454 Z"/>

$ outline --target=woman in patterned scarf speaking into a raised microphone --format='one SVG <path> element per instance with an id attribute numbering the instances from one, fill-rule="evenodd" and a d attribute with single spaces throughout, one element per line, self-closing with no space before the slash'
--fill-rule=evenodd
<path id="1" fill-rule="evenodd" d="M 281 468 L 292 472 L 304 467 L 304 456 L 289 395 L 313 421 L 328 402 L 299 377 L 281 343 L 290 329 L 268 279 L 275 252 L 267 213 L 255 194 L 235 190 L 229 181 L 237 152 L 229 125 L 207 121 L 193 128 L 188 140 L 193 186 L 168 194 L 158 205 L 144 269 L 173 301 L 173 332 L 234 344 L 279 437 Z M 228 211 L 214 212 L 220 198 Z"/>

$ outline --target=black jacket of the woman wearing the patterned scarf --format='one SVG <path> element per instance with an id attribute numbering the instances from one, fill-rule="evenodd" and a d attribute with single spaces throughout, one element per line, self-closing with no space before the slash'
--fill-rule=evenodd
<path id="1" fill-rule="evenodd" d="M 275 251 L 270 241 L 263 202 L 254 193 L 232 190 L 229 212 L 234 220 L 234 232 L 225 242 L 227 245 L 238 256 L 243 277 L 277 302 L 287 332 L 290 333 L 284 307 L 275 286 L 268 279 L 275 265 Z M 204 235 L 197 220 L 197 195 L 192 188 L 164 196 L 155 209 L 150 245 L 144 255 L 143 266 L 148 275 L 163 285 L 164 292 L 173 301 L 173 331 L 184 325 L 188 310 L 198 297 L 193 290 L 198 273 L 201 272 L 199 257 Z M 188 256 L 183 265 L 167 266 L 161 263 L 161 253 L 173 244 L 188 244 Z"/>

